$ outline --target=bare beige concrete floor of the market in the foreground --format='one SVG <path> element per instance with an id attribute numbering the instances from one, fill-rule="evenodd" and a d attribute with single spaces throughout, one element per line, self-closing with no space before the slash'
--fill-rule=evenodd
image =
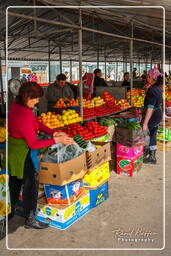
<path id="1" fill-rule="evenodd" d="M 88 212 L 66 231 L 54 228 L 47 230 L 25 230 L 23 219 L 16 216 L 10 222 L 8 246 L 10 248 L 162 248 L 163 247 L 163 154 L 158 153 L 156 166 L 144 165 L 133 178 L 112 173 L 109 181 L 109 198 Z M 171 153 L 166 153 L 166 247 L 159 251 L 8 251 L 5 239 L 0 241 L 0 255 L 171 255 L 169 235 L 171 224 Z M 135 232 L 138 229 L 151 231 L 153 242 L 120 242 L 116 230 Z M 133 235 L 132 235 L 133 236 Z"/>

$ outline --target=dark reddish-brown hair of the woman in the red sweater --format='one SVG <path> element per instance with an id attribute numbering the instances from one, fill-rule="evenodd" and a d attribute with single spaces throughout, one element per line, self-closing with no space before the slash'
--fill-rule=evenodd
<path id="1" fill-rule="evenodd" d="M 19 89 L 19 93 L 16 97 L 16 103 L 20 105 L 26 105 L 28 98 L 36 99 L 43 96 L 43 89 L 36 82 L 23 83 Z"/>

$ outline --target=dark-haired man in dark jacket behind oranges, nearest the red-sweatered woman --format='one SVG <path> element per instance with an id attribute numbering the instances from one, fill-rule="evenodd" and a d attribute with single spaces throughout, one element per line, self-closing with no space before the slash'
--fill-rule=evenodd
<path id="1" fill-rule="evenodd" d="M 55 103 L 63 98 L 67 101 L 68 98 L 73 98 L 74 93 L 67 84 L 67 78 L 64 74 L 59 74 L 56 81 L 49 85 L 46 91 L 46 99 L 48 100 L 48 111 L 53 111 Z"/>

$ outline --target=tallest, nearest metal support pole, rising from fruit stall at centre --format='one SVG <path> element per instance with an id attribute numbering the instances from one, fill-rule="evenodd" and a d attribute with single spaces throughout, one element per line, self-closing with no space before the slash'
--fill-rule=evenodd
<path id="1" fill-rule="evenodd" d="M 83 83 L 82 83 L 82 12 L 79 9 L 78 46 L 79 46 L 79 92 L 80 92 L 80 115 L 83 118 Z"/>

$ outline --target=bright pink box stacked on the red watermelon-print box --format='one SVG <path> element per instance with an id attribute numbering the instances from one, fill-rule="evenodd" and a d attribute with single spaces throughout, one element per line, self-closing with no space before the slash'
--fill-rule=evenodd
<path id="1" fill-rule="evenodd" d="M 138 147 L 126 147 L 122 144 L 117 143 L 116 153 L 117 156 L 126 158 L 135 158 L 143 154 L 144 146 Z"/>

